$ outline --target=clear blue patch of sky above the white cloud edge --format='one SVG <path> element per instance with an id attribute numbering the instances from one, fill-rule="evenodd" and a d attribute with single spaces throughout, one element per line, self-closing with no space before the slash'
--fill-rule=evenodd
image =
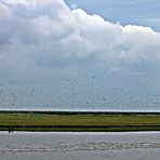
<path id="1" fill-rule="evenodd" d="M 111 23 L 149 26 L 160 31 L 158 0 L 66 0 L 71 8 L 80 8 L 89 14 L 98 14 Z"/>

